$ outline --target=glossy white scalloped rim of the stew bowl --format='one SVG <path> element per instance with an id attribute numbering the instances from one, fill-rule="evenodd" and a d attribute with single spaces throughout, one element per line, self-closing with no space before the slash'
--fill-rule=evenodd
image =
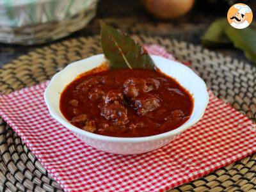
<path id="1" fill-rule="evenodd" d="M 157 56 L 157 55 L 154 55 L 154 54 L 150 54 L 150 56 L 153 57 L 153 58 L 163 58 L 164 60 L 168 60 L 167 58 L 164 58 L 162 56 Z M 78 127 L 70 124 L 68 122 L 68 120 L 66 120 L 66 119 L 64 120 L 63 118 L 61 118 L 58 115 L 58 113 L 56 113 L 56 110 L 51 106 L 51 104 L 49 102 L 50 98 L 48 97 L 48 95 L 49 95 L 49 93 L 51 93 L 51 87 L 53 86 L 54 82 L 57 81 L 58 77 L 61 76 L 62 72 L 64 72 L 65 70 L 68 70 L 71 67 L 74 67 L 75 65 L 77 65 L 77 63 L 81 63 L 84 60 L 94 60 L 94 59 L 97 59 L 99 57 L 101 57 L 101 58 L 104 57 L 104 54 L 96 54 L 94 56 L 90 56 L 90 57 L 85 58 L 83 60 L 78 60 L 78 61 L 70 63 L 69 65 L 67 65 L 67 67 L 63 68 L 63 70 L 54 74 L 50 83 L 47 85 L 47 88 L 45 89 L 44 100 L 45 100 L 45 103 L 46 103 L 47 108 L 49 110 L 49 113 L 51 114 L 51 116 L 55 120 L 60 122 L 62 125 L 64 125 L 70 131 L 75 132 L 76 134 L 80 134 L 82 136 L 86 136 L 86 137 L 91 138 L 91 139 L 101 140 L 101 141 L 112 141 L 112 142 L 116 142 L 116 143 L 138 143 L 138 142 L 145 142 L 145 141 L 155 141 L 155 140 L 161 140 L 161 139 L 164 139 L 164 138 L 169 138 L 171 136 L 175 136 L 177 134 L 180 134 L 181 132 L 185 131 L 186 129 L 188 129 L 192 125 L 195 125 L 196 122 L 198 122 L 200 120 L 200 118 L 202 118 L 202 116 L 204 115 L 205 109 L 207 108 L 207 104 L 209 103 L 209 94 L 207 92 L 207 86 L 206 86 L 204 80 L 201 77 L 199 77 L 193 70 L 191 70 L 191 68 L 187 67 L 186 65 L 184 65 L 184 64 L 182 64 L 178 61 L 170 60 L 172 62 L 177 63 L 177 65 L 181 65 L 184 68 L 184 70 L 186 70 L 192 76 L 194 76 L 196 79 L 198 79 L 198 81 L 200 82 L 200 86 L 202 86 L 205 90 L 205 93 L 202 93 L 202 95 L 204 95 L 204 108 L 202 109 L 202 111 L 200 111 L 199 115 L 196 116 L 196 118 L 193 118 L 193 120 L 191 120 L 191 122 L 187 123 L 188 122 L 187 121 L 184 124 L 180 125 L 180 127 L 177 127 L 176 129 L 173 129 L 172 131 L 163 132 L 161 134 L 156 134 L 156 135 L 153 135 L 153 136 L 134 137 L 134 138 L 105 136 L 105 135 L 101 135 L 101 134 L 95 134 L 95 133 L 92 133 L 92 132 L 84 131 L 83 129 L 79 129 Z M 104 60 L 106 60 L 106 59 L 104 58 Z M 83 72 L 81 72 L 81 73 L 83 73 Z M 177 82 L 179 83 L 179 81 L 177 81 Z M 203 100 L 202 100 L 202 102 L 203 102 Z M 60 104 L 60 101 L 59 101 L 59 104 Z M 193 108 L 193 110 L 194 110 L 194 108 Z"/>

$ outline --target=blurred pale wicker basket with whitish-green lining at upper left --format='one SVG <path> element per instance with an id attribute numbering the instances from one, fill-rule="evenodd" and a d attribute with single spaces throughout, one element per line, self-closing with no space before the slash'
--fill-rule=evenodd
<path id="1" fill-rule="evenodd" d="M 10 1 L 13 4 L 8 7 L 0 2 L 0 42 L 22 45 L 51 42 L 84 28 L 95 16 L 98 2 L 33 0 L 26 4 L 26 0 Z"/>

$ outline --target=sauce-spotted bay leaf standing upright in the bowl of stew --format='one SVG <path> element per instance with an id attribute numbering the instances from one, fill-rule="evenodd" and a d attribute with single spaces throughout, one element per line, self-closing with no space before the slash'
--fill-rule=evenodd
<path id="1" fill-rule="evenodd" d="M 148 52 L 127 34 L 100 21 L 102 50 L 111 68 L 144 68 L 154 70 Z"/>

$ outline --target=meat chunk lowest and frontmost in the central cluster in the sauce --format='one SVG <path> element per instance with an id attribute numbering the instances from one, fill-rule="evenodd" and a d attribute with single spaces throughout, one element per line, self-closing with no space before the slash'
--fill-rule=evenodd
<path id="1" fill-rule="evenodd" d="M 112 120 L 117 125 L 124 125 L 129 122 L 127 109 L 118 102 L 102 106 L 100 115 L 104 116 L 107 120 Z"/>

